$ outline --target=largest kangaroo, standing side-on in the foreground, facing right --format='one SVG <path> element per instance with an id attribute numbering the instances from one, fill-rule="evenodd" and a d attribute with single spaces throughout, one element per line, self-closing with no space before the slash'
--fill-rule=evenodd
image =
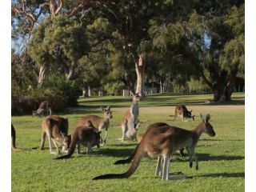
<path id="1" fill-rule="evenodd" d="M 186 147 L 186 150 L 189 152 L 190 167 L 192 167 L 194 159 L 196 169 L 198 170 L 198 158 L 194 151 L 198 138 L 203 132 L 209 134 L 210 137 L 214 137 L 215 135 L 213 126 L 210 125 L 209 120 L 210 115 L 207 114 L 206 118 L 203 118 L 202 122 L 194 130 L 184 130 L 175 126 L 169 126 L 165 122 L 157 122 L 148 126 L 146 133 L 142 137 L 142 141 L 138 143 L 133 154 L 131 154 L 130 159 L 133 159 L 133 161 L 129 170 L 123 174 L 104 174 L 93 179 L 129 178 L 138 168 L 142 156 L 147 154 L 152 158 L 158 156 L 155 174 L 162 175 L 162 179 L 168 180 L 170 155 L 183 147 Z"/>

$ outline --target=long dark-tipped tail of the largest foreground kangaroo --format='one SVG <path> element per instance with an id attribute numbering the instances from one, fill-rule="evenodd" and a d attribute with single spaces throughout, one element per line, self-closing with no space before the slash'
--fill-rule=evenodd
<path id="1" fill-rule="evenodd" d="M 123 174 L 103 174 L 103 175 L 93 178 L 93 180 L 108 179 L 108 178 L 129 178 L 130 175 L 134 174 L 135 170 L 137 170 L 139 162 L 141 162 L 143 154 L 144 154 L 144 151 L 142 149 L 142 146 L 140 146 L 140 144 L 138 144 L 138 147 L 136 148 L 136 150 L 134 152 L 134 161 L 132 162 L 129 170 L 127 170 Z"/>

